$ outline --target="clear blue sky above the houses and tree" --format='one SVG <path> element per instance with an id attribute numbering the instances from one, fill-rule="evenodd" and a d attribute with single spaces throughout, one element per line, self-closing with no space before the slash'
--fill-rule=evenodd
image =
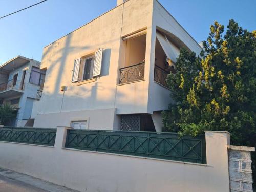
<path id="1" fill-rule="evenodd" d="M 0 17 L 41 0 L 0 0 Z M 143 0 L 137 0 L 143 1 Z M 159 0 L 200 42 L 215 20 L 256 30 L 256 0 Z M 0 65 L 22 55 L 41 61 L 42 48 L 116 6 L 116 0 L 48 0 L 0 19 Z"/>

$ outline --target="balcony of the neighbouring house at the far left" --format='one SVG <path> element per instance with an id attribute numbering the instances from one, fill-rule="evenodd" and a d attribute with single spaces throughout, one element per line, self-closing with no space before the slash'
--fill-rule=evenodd
<path id="1" fill-rule="evenodd" d="M 0 84 L 0 98 L 12 97 L 23 94 L 24 81 L 12 79 Z"/>

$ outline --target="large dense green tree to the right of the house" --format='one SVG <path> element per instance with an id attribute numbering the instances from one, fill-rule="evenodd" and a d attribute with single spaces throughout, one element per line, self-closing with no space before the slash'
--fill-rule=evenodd
<path id="1" fill-rule="evenodd" d="M 256 32 L 230 20 L 210 26 L 201 57 L 182 49 L 167 83 L 176 102 L 162 113 L 165 130 L 198 135 L 229 131 L 232 144 L 256 146 Z"/>

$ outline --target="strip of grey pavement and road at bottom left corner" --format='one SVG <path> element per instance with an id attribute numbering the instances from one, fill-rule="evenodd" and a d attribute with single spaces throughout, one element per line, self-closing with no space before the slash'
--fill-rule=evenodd
<path id="1" fill-rule="evenodd" d="M 1 192 L 78 192 L 35 177 L 0 167 Z"/>

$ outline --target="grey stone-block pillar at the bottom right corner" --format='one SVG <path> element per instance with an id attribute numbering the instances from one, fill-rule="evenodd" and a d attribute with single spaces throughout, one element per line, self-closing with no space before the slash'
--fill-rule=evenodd
<path id="1" fill-rule="evenodd" d="M 251 152 L 254 151 L 254 147 L 228 146 L 231 192 L 253 192 Z"/>

